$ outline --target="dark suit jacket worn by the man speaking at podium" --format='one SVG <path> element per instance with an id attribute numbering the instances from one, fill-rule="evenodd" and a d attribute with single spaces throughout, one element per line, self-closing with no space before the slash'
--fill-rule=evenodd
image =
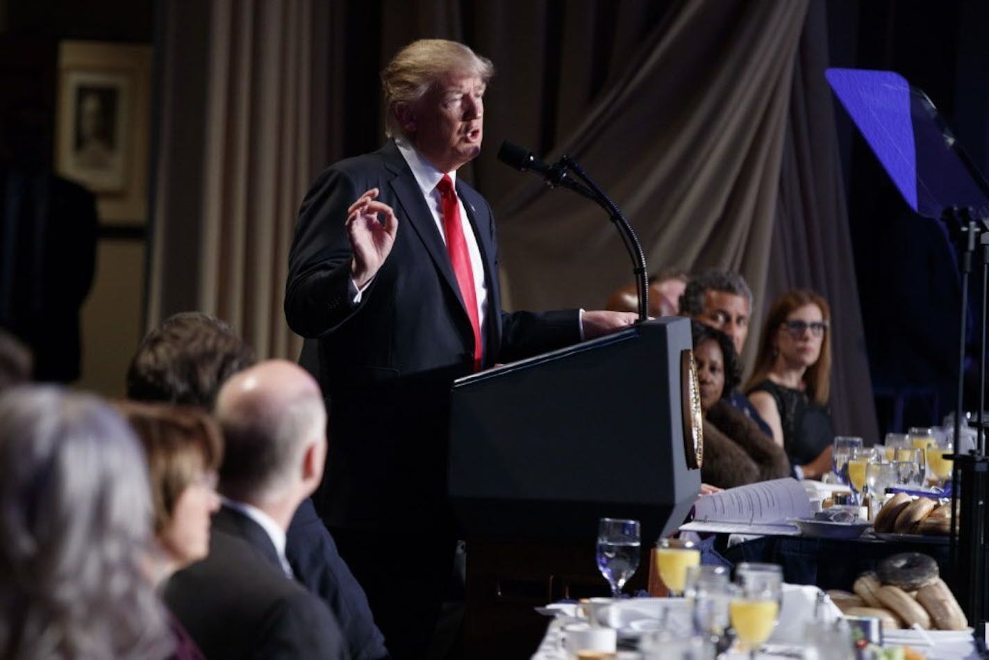
<path id="1" fill-rule="evenodd" d="M 347 208 L 377 187 L 399 220 L 388 259 L 362 300 L 349 295 Z M 497 240 L 488 202 L 457 180 L 484 260 L 484 366 L 576 343 L 576 310 L 500 309 Z M 331 401 L 319 514 L 334 526 L 427 531 L 446 509 L 450 384 L 473 369 L 474 336 L 450 258 L 398 147 L 343 160 L 316 179 L 289 257 L 286 316 L 318 337 L 319 381 Z"/>

